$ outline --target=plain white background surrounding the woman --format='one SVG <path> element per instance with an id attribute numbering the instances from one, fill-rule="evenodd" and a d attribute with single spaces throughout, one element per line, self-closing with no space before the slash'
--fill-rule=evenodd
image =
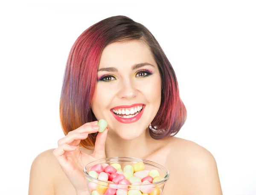
<path id="1" fill-rule="evenodd" d="M 177 137 L 212 152 L 224 195 L 256 195 L 253 0 L 43 2 L 0 5 L 1 195 L 26 195 L 32 161 L 64 136 L 68 53 L 85 29 L 114 15 L 145 25 L 172 63 L 188 111 Z"/>

